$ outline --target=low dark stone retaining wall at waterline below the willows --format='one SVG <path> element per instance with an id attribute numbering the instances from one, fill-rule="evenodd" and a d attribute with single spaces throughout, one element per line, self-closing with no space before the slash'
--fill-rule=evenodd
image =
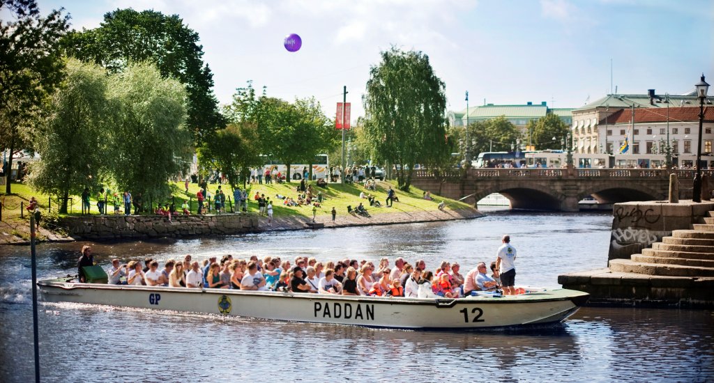
<path id="1" fill-rule="evenodd" d="M 156 215 L 91 215 L 63 218 L 60 225 L 73 238 L 129 239 L 230 235 L 258 230 L 251 214 L 176 215 L 172 222 Z"/>

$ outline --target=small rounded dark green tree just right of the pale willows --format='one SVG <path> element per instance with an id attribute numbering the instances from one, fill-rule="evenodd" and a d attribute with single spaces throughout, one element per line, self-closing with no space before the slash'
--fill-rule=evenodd
<path id="1" fill-rule="evenodd" d="M 198 149 L 201 163 L 225 174 L 231 188 L 235 189 L 248 168 L 263 165 L 258 149 L 258 134 L 252 123 L 231 123 L 216 132 Z M 245 178 L 243 178 L 245 186 Z"/>

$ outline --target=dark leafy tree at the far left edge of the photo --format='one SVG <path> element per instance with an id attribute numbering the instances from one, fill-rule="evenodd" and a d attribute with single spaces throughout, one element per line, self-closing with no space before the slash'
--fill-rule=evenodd
<path id="1" fill-rule="evenodd" d="M 34 0 L 0 1 L 0 148 L 10 152 L 8 194 L 14 150 L 26 146 L 21 129 L 31 126 L 64 76 L 59 39 L 69 27 L 69 16 L 61 11 L 42 17 Z"/>

